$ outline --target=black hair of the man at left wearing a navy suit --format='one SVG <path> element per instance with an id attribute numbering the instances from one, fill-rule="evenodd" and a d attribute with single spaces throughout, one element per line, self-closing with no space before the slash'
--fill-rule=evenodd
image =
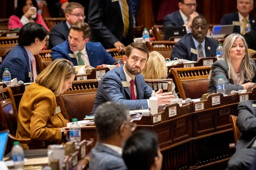
<path id="1" fill-rule="evenodd" d="M 35 43 L 35 38 L 43 41 L 47 35 L 47 30 L 38 23 L 27 23 L 20 29 L 18 38 L 19 45 L 29 46 Z"/>

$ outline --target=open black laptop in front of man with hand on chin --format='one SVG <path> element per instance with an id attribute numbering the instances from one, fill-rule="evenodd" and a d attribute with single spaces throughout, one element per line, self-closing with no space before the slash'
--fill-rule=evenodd
<path id="1" fill-rule="evenodd" d="M 165 40 L 170 40 L 170 38 L 183 37 L 183 35 L 186 34 L 186 27 L 185 26 L 164 27 L 163 31 L 164 31 Z"/>

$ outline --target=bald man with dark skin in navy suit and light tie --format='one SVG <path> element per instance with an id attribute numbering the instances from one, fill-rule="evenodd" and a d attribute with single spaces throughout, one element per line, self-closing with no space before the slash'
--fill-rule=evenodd
<path id="1" fill-rule="evenodd" d="M 207 31 L 207 20 L 201 15 L 195 17 L 191 26 L 191 33 L 184 35 L 175 44 L 171 59 L 177 57 L 196 61 L 199 57 L 216 56 L 218 41 L 206 37 Z"/>

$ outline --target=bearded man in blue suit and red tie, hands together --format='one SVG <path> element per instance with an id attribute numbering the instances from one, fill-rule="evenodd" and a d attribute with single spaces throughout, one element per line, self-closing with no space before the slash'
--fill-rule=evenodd
<path id="1" fill-rule="evenodd" d="M 92 115 L 100 104 L 107 101 L 122 103 L 129 110 L 148 109 L 148 99 L 151 97 L 152 89 L 140 74 L 147 65 L 148 53 L 148 48 L 143 43 L 133 42 L 127 46 L 123 56 L 124 66 L 114 68 L 102 77 Z M 162 92 L 162 89 L 156 92 L 158 105 L 170 104 L 170 98 L 175 96 L 172 92 Z"/>

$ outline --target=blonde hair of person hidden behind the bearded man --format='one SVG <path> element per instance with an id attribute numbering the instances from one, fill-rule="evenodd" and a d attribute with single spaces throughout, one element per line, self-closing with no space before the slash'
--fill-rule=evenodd
<path id="1" fill-rule="evenodd" d="M 141 74 L 145 79 L 165 79 L 167 77 L 165 58 L 159 52 L 151 51 Z"/>

